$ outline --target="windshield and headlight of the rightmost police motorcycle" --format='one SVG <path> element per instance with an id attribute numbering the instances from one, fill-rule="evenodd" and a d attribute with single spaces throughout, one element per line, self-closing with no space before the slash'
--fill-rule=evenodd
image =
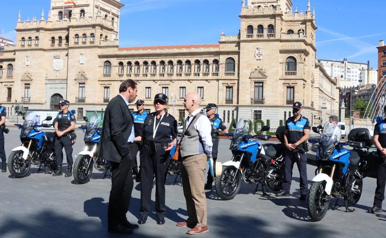
<path id="1" fill-rule="evenodd" d="M 335 145 L 340 141 L 340 127 L 333 123 L 326 123 L 320 136 L 320 157 L 326 159 L 334 151 Z"/>

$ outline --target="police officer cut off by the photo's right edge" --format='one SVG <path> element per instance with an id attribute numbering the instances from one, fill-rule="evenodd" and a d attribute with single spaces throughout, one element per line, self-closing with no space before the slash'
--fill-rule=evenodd
<path id="1" fill-rule="evenodd" d="M 374 204 L 372 208 L 368 210 L 369 213 L 381 213 L 382 201 L 385 196 L 385 184 L 386 184 L 386 119 L 377 122 L 374 127 L 374 145 L 377 147 L 378 155 L 380 155 L 377 161 L 377 187 L 375 189 Z"/>

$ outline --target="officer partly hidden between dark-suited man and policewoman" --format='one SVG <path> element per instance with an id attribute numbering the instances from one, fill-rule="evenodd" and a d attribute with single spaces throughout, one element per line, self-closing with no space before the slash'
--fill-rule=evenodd
<path id="1" fill-rule="evenodd" d="M 135 132 L 135 137 L 138 137 L 141 135 L 142 129 L 144 127 L 145 118 L 149 113 L 145 111 L 145 102 L 143 100 L 137 100 L 135 105 L 137 105 L 137 111 L 133 113 L 134 132 Z M 133 152 L 133 176 L 135 176 L 135 182 L 141 181 L 141 175 L 140 173 L 138 173 L 138 165 L 137 165 L 137 154 L 138 154 L 138 151 L 141 150 L 141 148 L 142 148 L 142 141 L 134 141 L 132 152 Z"/>

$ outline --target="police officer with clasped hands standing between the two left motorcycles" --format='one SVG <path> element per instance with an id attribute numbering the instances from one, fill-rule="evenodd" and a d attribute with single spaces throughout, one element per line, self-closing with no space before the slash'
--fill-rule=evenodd
<path id="1" fill-rule="evenodd" d="M 73 165 L 73 158 L 72 158 L 72 144 L 73 141 L 71 140 L 70 136 L 71 133 L 73 133 L 73 130 L 75 128 L 75 115 L 72 114 L 68 107 L 70 105 L 70 102 L 67 100 L 61 100 L 59 102 L 61 112 L 58 113 L 56 116 L 54 128 L 56 132 L 56 139 L 55 139 L 55 154 L 56 154 L 56 164 L 58 165 L 58 170 L 52 174 L 53 176 L 61 176 L 62 173 L 62 162 L 63 162 L 63 147 L 64 151 L 66 152 L 67 157 L 67 172 L 65 177 L 72 176 L 72 165 Z"/>

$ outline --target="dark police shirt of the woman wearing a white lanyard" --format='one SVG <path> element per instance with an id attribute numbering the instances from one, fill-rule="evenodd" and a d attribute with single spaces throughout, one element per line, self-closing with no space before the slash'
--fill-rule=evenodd
<path id="1" fill-rule="evenodd" d="M 173 138 L 177 137 L 177 121 L 169 113 L 164 114 L 161 122 L 160 122 L 161 117 L 157 119 L 157 117 L 154 117 L 155 115 L 156 113 L 153 112 L 146 116 L 145 122 L 144 122 L 144 128 L 142 130 L 142 137 L 144 137 L 144 139 L 148 141 L 153 140 L 153 129 L 154 129 L 153 123 L 156 123 L 156 127 L 160 123 L 156 131 L 156 136 L 154 138 L 154 141 L 156 143 L 169 143 L 170 136 Z M 155 122 L 154 122 L 154 118 L 156 118 Z"/>

